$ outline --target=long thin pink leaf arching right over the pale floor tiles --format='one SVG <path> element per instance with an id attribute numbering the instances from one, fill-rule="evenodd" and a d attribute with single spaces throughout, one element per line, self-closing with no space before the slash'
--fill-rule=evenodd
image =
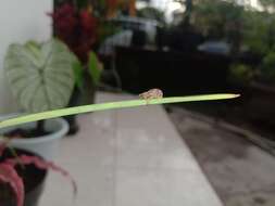
<path id="1" fill-rule="evenodd" d="M 23 165 L 34 164 L 39 169 L 51 169 L 51 170 L 58 171 L 62 176 L 66 177 L 72 182 L 72 185 L 73 185 L 73 189 L 74 189 L 74 195 L 76 195 L 76 193 L 77 193 L 76 182 L 71 177 L 71 175 L 66 170 L 64 170 L 63 168 L 54 165 L 51 162 L 43 160 L 43 159 L 41 159 L 41 158 L 39 158 L 37 156 L 21 155 L 17 158 L 8 159 L 7 163 L 9 163 L 9 164 L 11 164 L 13 166 L 15 166 L 17 164 L 23 164 Z"/>

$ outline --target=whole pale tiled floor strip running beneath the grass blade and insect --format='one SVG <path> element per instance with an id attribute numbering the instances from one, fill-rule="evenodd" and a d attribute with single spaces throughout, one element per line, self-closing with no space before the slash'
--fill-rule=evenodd
<path id="1" fill-rule="evenodd" d="M 100 93 L 99 102 L 133 99 Z M 161 106 L 82 115 L 57 163 L 78 183 L 50 173 L 40 206 L 222 206 Z"/>

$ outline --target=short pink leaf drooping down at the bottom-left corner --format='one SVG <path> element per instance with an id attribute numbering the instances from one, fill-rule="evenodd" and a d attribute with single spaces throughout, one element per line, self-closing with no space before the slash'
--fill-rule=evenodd
<path id="1" fill-rule="evenodd" d="M 10 184 L 16 195 L 17 206 L 23 206 L 25 195 L 24 184 L 12 165 L 8 163 L 0 164 L 0 181 Z"/>

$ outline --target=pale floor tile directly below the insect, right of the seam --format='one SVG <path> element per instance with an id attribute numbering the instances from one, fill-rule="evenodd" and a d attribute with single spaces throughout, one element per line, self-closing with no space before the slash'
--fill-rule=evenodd
<path id="1" fill-rule="evenodd" d="M 118 166 L 199 169 L 161 106 L 118 111 L 116 143 Z"/>

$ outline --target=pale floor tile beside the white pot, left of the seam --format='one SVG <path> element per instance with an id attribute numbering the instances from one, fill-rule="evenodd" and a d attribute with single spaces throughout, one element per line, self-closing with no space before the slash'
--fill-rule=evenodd
<path id="1" fill-rule="evenodd" d="M 79 116 L 79 132 L 75 137 L 62 140 L 62 150 L 58 158 L 61 162 L 88 160 L 98 166 L 112 165 L 115 141 L 112 121 L 109 113 Z"/>

